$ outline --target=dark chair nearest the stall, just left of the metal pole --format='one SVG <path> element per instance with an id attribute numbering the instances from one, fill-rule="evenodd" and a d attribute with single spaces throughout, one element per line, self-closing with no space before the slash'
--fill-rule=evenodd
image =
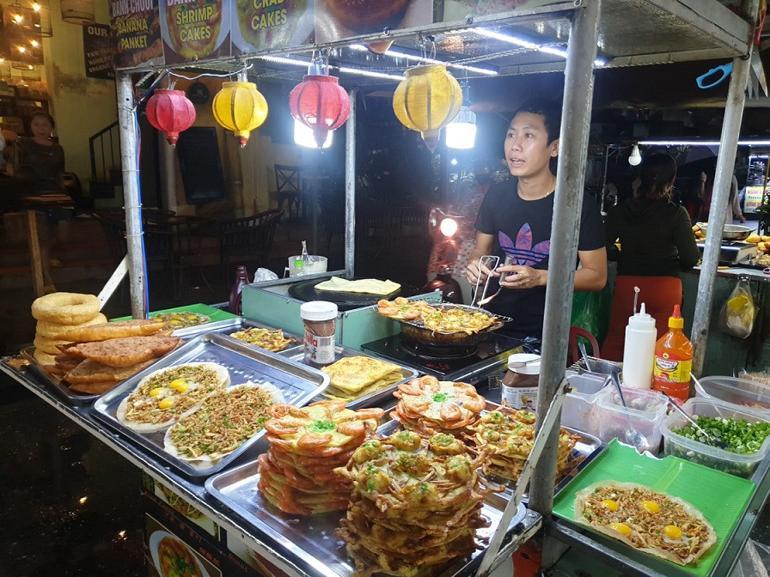
<path id="1" fill-rule="evenodd" d="M 267 210 L 254 216 L 220 222 L 220 263 L 222 278 L 227 281 L 231 263 L 253 263 L 266 266 L 283 211 Z"/>

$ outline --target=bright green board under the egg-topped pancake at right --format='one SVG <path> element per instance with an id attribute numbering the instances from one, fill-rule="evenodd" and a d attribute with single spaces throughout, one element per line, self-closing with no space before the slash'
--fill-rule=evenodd
<path id="1" fill-rule="evenodd" d="M 684 499 L 696 507 L 717 534 L 717 542 L 695 565 L 681 567 L 675 563 L 637 551 L 621 541 L 593 531 L 597 540 L 620 550 L 628 557 L 664 574 L 680 570 L 681 574 L 705 577 L 719 559 L 722 549 L 743 515 L 754 494 L 755 486 L 748 479 L 734 477 L 678 457 L 657 459 L 640 455 L 633 447 L 613 439 L 607 448 L 562 489 L 554 500 L 554 515 L 575 520 L 575 494 L 600 481 L 638 483 L 655 491 Z"/>

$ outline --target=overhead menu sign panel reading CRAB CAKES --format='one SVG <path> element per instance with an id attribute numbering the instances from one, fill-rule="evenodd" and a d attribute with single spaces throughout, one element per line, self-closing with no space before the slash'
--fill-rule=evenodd
<path id="1" fill-rule="evenodd" d="M 313 0 L 235 0 L 233 53 L 313 43 Z"/>

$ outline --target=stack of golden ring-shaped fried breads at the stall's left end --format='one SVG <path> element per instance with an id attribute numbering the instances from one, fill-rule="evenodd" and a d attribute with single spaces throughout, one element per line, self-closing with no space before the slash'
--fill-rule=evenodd
<path id="1" fill-rule="evenodd" d="M 51 293 L 32 303 L 35 327 L 35 359 L 44 367 L 54 365 L 59 346 L 70 344 L 70 330 L 107 322 L 99 312 L 99 299 L 80 293 Z"/>

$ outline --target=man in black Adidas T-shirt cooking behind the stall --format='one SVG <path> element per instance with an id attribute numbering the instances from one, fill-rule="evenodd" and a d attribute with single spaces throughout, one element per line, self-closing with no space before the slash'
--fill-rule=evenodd
<path id="1" fill-rule="evenodd" d="M 492 186 L 476 219 L 476 247 L 466 269 L 475 285 L 489 274 L 492 294 L 500 294 L 486 308 L 514 319 L 506 332 L 518 338 L 542 338 L 545 287 L 548 280 L 551 221 L 556 176 L 551 163 L 559 155 L 561 108 L 549 103 L 527 103 L 508 127 L 503 151 L 510 180 Z M 497 254 L 501 266 L 480 270 L 483 255 Z M 598 205 L 583 200 L 578 241 L 580 267 L 575 290 L 600 291 L 607 282 L 604 225 Z M 507 258 L 507 264 L 502 264 Z"/>

